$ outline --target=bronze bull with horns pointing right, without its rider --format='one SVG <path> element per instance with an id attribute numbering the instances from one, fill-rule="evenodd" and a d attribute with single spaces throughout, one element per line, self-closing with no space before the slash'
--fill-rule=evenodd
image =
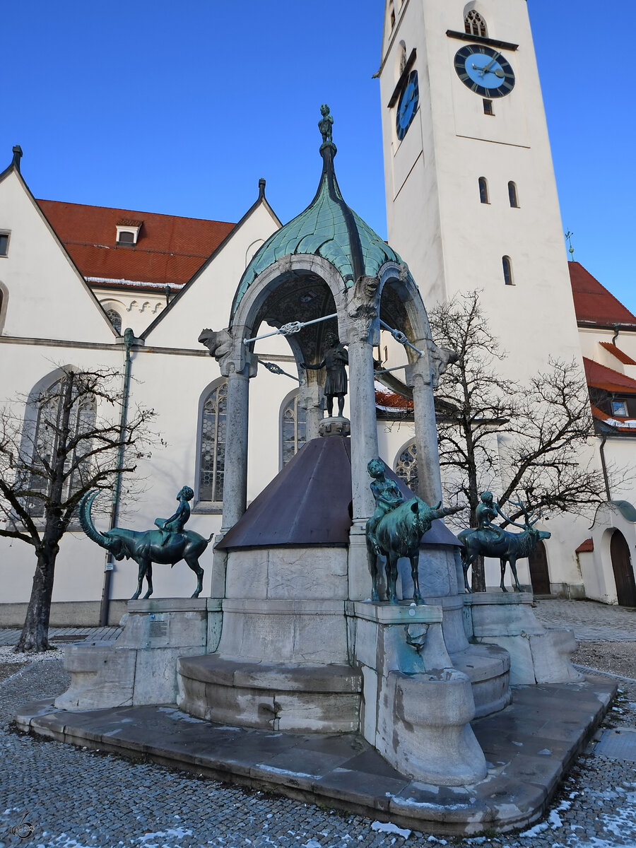
<path id="1" fill-rule="evenodd" d="M 387 600 L 397 604 L 395 583 L 398 577 L 398 560 L 402 556 L 410 560 L 410 573 L 413 578 L 413 600 L 423 604 L 420 593 L 418 565 L 420 561 L 420 540 L 431 529 L 436 518 L 452 515 L 463 510 L 463 506 L 429 506 L 421 498 L 411 498 L 396 506 L 382 516 L 376 527 L 370 528 L 371 519 L 366 523 L 366 548 L 371 563 L 371 600 L 380 600 L 378 592 L 377 554 L 386 557 Z"/>

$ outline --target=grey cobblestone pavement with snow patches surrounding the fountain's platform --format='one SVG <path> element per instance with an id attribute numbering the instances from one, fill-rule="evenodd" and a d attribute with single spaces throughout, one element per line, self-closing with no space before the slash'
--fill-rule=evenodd
<path id="1" fill-rule="evenodd" d="M 538 611 L 553 625 L 566 625 L 568 616 L 579 616 L 575 627 L 594 636 L 601 646 L 604 641 L 621 641 L 618 633 L 623 633 L 623 640 L 634 639 L 626 611 L 609 608 L 604 628 L 599 622 L 605 612 L 596 612 L 597 606 L 601 605 L 542 601 Z M 579 758 L 550 810 L 533 828 L 502 837 L 483 834 L 454 840 L 409 833 L 371 819 L 12 730 L 10 721 L 18 706 L 63 691 L 67 681 L 61 660 L 45 658 L 16 665 L 14 673 L 0 682 L 0 848 L 636 846 L 636 762 L 595 754 L 594 745 Z M 636 734 L 636 683 L 619 683 L 622 695 L 605 727 Z M 27 825 L 33 828 L 31 835 Z M 20 826 L 24 839 L 11 833 L 11 828 Z"/>

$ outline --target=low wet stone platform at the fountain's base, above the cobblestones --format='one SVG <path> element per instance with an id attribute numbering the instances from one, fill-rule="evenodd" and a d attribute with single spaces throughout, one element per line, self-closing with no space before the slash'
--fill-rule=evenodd
<path id="1" fill-rule="evenodd" d="M 541 816 L 615 691 L 606 678 L 514 687 L 511 706 L 472 722 L 488 761 L 487 777 L 455 787 L 405 778 L 360 734 L 235 728 L 192 718 L 174 706 L 70 712 L 44 700 L 23 706 L 16 721 L 20 729 L 48 738 L 144 757 L 408 828 L 478 834 L 522 828 Z"/>

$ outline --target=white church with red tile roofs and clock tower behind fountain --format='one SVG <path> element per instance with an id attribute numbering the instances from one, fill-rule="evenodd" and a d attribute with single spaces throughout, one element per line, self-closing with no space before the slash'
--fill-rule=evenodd
<path id="1" fill-rule="evenodd" d="M 532 377 L 550 357 L 577 361 L 595 428 L 582 462 L 605 472 L 606 505 L 591 517 L 552 518 L 551 538 L 529 566 L 520 563 L 520 579 L 536 594 L 636 605 L 636 492 L 633 483 L 614 490 L 606 472 L 633 463 L 636 317 L 582 265 L 566 261 L 526 0 L 387 0 L 379 83 L 387 243 L 365 225 L 364 209 L 357 210 L 361 218 L 349 209 L 335 173 L 329 176 L 331 165 L 318 157 L 318 192 L 283 228 L 264 180 L 237 223 L 38 200 L 22 173 L 28 151 L 23 166 L 14 148 L 0 174 L 3 399 L 31 421 L 33 399 L 63 368 L 123 370 L 130 360 L 131 403 L 155 410 L 165 446 L 140 458 L 143 494 L 122 502 L 120 526 L 152 527 L 188 485 L 188 527 L 207 538 L 221 530 L 228 382 L 198 338 L 206 327 L 228 326 L 235 294 L 262 268 L 287 257 L 291 268 L 302 254 L 315 257 L 316 269 L 332 263 L 353 284 L 360 250 L 367 267 L 408 266 L 427 309 L 480 289 L 509 352 L 504 376 Z M 299 208 L 308 199 L 298 198 Z M 349 227 L 350 235 L 352 226 L 360 245 L 343 248 L 339 234 Z M 318 272 L 313 287 L 305 270 L 302 292 L 281 289 L 286 321 L 296 320 L 292 295 L 302 298 L 304 315 L 312 300 L 323 310 Z M 264 315 L 254 343 L 248 502 L 314 438 L 325 409 L 318 382 L 300 367 L 293 336 L 276 334 L 276 326 Z M 389 329 L 380 359 L 385 345 L 395 349 Z M 416 433 L 404 409 L 408 402 L 378 382 L 380 455 L 408 481 L 416 476 Z M 107 529 L 107 517 L 100 521 Z M 8 538 L 0 538 L 0 550 L 0 625 L 16 626 L 24 620 L 35 556 L 31 546 Z M 211 545 L 201 564 L 209 595 Z M 488 584 L 499 583 L 498 572 L 497 563 L 488 565 Z M 159 566 L 155 596 L 190 594 L 190 582 L 184 563 Z M 56 566 L 52 623 L 94 625 L 100 616 L 116 623 L 136 583 L 134 563 L 109 561 L 79 524 L 71 525 Z"/>

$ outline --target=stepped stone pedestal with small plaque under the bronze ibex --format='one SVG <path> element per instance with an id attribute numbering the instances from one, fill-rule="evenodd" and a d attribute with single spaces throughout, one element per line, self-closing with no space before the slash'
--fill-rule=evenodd
<path id="1" fill-rule="evenodd" d="M 70 687 L 55 700 L 59 710 L 173 704 L 180 656 L 215 650 L 220 601 L 209 598 L 129 600 L 114 642 L 70 645 L 64 668 Z"/>

